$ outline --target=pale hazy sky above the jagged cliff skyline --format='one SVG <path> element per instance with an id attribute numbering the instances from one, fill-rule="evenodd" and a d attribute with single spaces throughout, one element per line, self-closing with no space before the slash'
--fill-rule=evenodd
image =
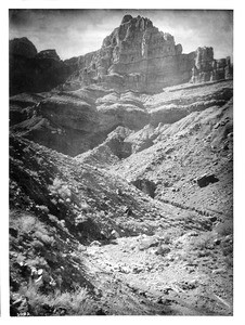
<path id="1" fill-rule="evenodd" d="M 10 10 L 10 39 L 25 36 L 38 51 L 55 49 L 65 60 L 99 50 L 125 14 L 150 18 L 183 53 L 206 46 L 215 58 L 233 56 L 233 13 L 220 10 Z"/>

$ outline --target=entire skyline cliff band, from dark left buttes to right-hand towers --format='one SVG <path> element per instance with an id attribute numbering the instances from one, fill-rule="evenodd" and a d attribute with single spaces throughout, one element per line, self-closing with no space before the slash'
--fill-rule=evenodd
<path id="1" fill-rule="evenodd" d="M 212 48 L 207 47 L 183 54 L 173 36 L 142 16 L 126 15 L 100 50 L 64 62 L 55 50 L 37 53 L 27 38 L 10 41 L 11 94 L 91 84 L 153 93 L 183 82 L 222 79 L 232 79 L 230 57 L 215 60 Z"/>

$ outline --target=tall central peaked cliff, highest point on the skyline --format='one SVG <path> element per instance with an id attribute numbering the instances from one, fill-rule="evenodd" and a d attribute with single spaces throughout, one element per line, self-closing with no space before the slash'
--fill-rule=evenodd
<path id="1" fill-rule="evenodd" d="M 149 18 L 126 15 L 101 50 L 67 62 L 78 69 L 65 88 L 99 82 L 118 90 L 155 92 L 189 81 L 194 56 L 194 52 L 182 54 L 182 46 Z"/>

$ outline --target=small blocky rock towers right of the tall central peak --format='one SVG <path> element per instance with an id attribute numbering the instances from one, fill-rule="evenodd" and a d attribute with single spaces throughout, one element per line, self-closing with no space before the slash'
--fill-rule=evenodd
<path id="1" fill-rule="evenodd" d="M 192 69 L 193 83 L 232 79 L 231 58 L 215 60 L 212 48 L 198 48 L 195 52 L 195 65 Z"/>

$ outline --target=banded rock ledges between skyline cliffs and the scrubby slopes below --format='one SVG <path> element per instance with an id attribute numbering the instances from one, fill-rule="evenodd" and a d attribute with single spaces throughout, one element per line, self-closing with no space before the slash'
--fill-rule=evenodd
<path id="1" fill-rule="evenodd" d="M 231 83 L 209 84 L 205 91 L 203 86 L 191 84 L 155 95 L 117 93 L 98 86 L 18 94 L 10 100 L 11 131 L 70 156 L 99 145 L 92 156 L 113 161 L 152 146 L 163 128 L 192 112 L 222 106 L 233 95 Z"/>

